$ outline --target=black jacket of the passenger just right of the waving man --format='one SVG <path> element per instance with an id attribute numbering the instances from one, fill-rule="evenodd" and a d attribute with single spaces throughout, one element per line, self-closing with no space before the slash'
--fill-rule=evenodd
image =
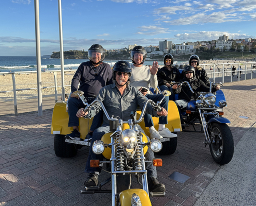
<path id="1" fill-rule="evenodd" d="M 164 66 L 157 72 L 159 86 L 165 85 L 166 83 L 170 83 L 172 81 L 179 81 L 180 78 L 180 72 L 176 67 L 172 67 L 171 71 L 169 71 L 168 68 Z"/>

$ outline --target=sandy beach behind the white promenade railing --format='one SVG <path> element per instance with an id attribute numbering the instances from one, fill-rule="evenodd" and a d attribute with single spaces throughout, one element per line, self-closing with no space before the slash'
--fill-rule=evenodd
<path id="1" fill-rule="evenodd" d="M 245 70 L 245 63 L 248 63 L 248 61 L 234 61 L 234 60 L 201 60 L 201 64 L 219 64 L 215 65 L 215 68 L 217 70 L 217 67 L 220 68 L 220 71 L 222 71 L 223 63 L 225 71 L 231 71 L 231 64 L 235 65 L 236 68 L 238 68 L 238 65 L 242 66 L 242 69 Z M 161 65 L 162 62 L 159 61 L 159 64 Z M 185 64 L 185 63 L 184 63 Z M 213 68 L 213 65 L 206 65 L 205 70 L 206 72 L 212 73 L 213 70 L 210 70 L 210 67 Z M 251 64 L 248 63 L 247 67 L 251 68 Z M 71 80 L 73 78 L 75 71 L 65 71 L 65 85 L 70 85 Z M 230 74 L 229 74 L 230 75 Z M 42 72 L 42 87 L 53 87 L 54 86 L 54 75 L 53 72 Z M 37 74 L 36 73 L 28 73 L 28 74 L 15 74 L 16 77 L 16 89 L 27 89 L 27 88 L 37 88 Z M 57 85 L 62 85 L 61 80 L 61 72 L 57 72 Z M 11 74 L 0 75 L 0 91 L 11 91 L 12 88 L 12 77 Z M 61 87 L 58 87 L 58 99 L 61 98 Z M 66 93 L 70 93 L 70 87 L 65 87 Z M 42 89 L 42 95 L 55 95 L 55 88 L 46 88 Z M 24 91 L 17 91 L 17 99 L 29 99 L 29 98 L 37 98 L 37 90 L 24 90 Z M 0 93 L 0 102 L 1 101 L 13 101 L 13 92 L 7 92 L 7 93 Z"/>

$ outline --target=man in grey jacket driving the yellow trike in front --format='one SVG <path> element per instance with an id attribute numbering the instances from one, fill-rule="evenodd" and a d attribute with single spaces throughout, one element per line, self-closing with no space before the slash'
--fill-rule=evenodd
<path id="1" fill-rule="evenodd" d="M 99 99 L 104 107 L 106 108 L 109 116 L 121 117 L 123 121 L 128 121 L 130 119 L 130 113 L 137 110 L 139 105 L 142 109 L 144 107 L 147 99 L 141 94 L 141 92 L 129 85 L 129 79 L 131 77 L 131 66 L 126 61 L 118 61 L 113 67 L 113 79 L 114 83 L 108 85 L 107 87 L 102 88 L 99 91 L 97 99 Z M 99 102 L 96 102 L 92 106 L 92 109 L 84 113 L 83 108 L 77 112 L 78 117 L 88 115 L 88 117 L 93 117 L 101 110 L 101 105 Z M 146 113 L 153 116 L 166 116 L 168 112 L 162 108 L 161 112 L 156 112 L 150 104 L 147 105 Z M 144 131 L 139 125 L 138 129 L 140 132 Z M 101 137 L 110 131 L 109 120 L 106 115 L 103 116 L 103 124 L 101 127 L 96 129 L 93 133 L 93 139 L 91 142 L 88 159 L 86 162 L 85 172 L 88 173 L 88 178 L 84 182 L 84 185 L 87 186 L 96 186 L 98 185 L 98 176 L 101 169 L 99 167 L 91 167 L 91 160 L 99 159 L 103 161 L 102 155 L 95 155 L 92 151 L 92 146 L 94 141 L 100 140 Z M 149 138 L 147 137 L 148 141 Z M 146 160 L 152 160 L 154 158 L 154 152 L 150 149 L 147 150 L 145 154 Z M 157 171 L 156 167 L 152 163 L 146 164 L 147 177 L 148 177 L 148 190 L 150 192 L 164 192 L 165 186 L 157 181 Z"/>

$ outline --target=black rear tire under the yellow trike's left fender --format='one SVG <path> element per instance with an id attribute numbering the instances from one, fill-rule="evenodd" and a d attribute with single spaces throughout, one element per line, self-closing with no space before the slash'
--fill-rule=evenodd
<path id="1" fill-rule="evenodd" d="M 72 158 L 77 155 L 78 149 L 73 144 L 65 142 L 65 135 L 54 135 L 54 151 L 55 155 L 60 158 Z"/>

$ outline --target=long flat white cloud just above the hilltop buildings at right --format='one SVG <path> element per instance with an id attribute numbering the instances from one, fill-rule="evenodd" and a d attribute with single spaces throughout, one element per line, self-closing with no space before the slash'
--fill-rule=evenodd
<path id="1" fill-rule="evenodd" d="M 251 37 L 246 35 L 245 33 L 230 33 L 227 31 L 200 31 L 197 33 L 178 33 L 177 35 L 174 35 L 174 36 L 182 41 L 189 41 L 189 40 L 211 41 L 211 40 L 219 39 L 219 37 L 223 35 L 229 36 L 230 39 L 232 35 L 233 35 L 233 39 L 244 39 L 244 38 Z"/>

